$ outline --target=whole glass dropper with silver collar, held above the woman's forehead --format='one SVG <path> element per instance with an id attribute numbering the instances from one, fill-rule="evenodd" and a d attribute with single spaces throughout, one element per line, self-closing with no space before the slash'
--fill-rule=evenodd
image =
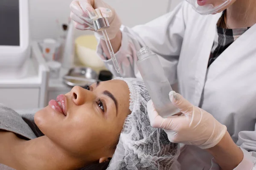
<path id="1" fill-rule="evenodd" d="M 111 59 L 113 61 L 114 67 L 116 69 L 116 72 L 120 73 L 120 68 L 119 68 L 119 65 L 117 63 L 115 53 L 113 51 L 112 45 L 110 43 L 107 31 L 106 31 L 106 29 L 109 28 L 108 19 L 105 18 L 105 17 L 102 17 L 102 14 L 101 14 L 101 12 L 100 12 L 100 10 L 98 8 L 95 9 L 95 11 L 96 11 L 98 17 L 93 21 L 94 29 L 97 32 L 102 31 L 103 37 L 104 37 L 106 45 L 108 47 L 108 51 L 109 51 L 109 54 L 110 54 Z"/>

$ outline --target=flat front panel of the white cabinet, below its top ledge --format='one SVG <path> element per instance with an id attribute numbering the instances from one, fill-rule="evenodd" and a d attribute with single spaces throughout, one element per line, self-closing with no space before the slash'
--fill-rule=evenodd
<path id="1" fill-rule="evenodd" d="M 0 88 L 0 103 L 12 109 L 39 107 L 39 88 Z"/>

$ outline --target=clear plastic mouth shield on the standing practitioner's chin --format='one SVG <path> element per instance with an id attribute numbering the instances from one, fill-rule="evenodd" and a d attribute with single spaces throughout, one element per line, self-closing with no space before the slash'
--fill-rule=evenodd
<path id="1" fill-rule="evenodd" d="M 215 6 L 213 4 L 206 4 L 206 5 L 203 5 L 203 6 L 198 5 L 198 1 L 201 1 L 202 4 L 203 4 L 206 0 L 186 0 L 186 1 L 189 2 L 193 6 L 195 11 L 197 11 L 199 14 L 208 15 L 208 14 L 216 13 L 221 8 L 224 8 L 229 3 L 231 3 L 232 0 L 222 0 L 223 3 L 217 4 Z"/>

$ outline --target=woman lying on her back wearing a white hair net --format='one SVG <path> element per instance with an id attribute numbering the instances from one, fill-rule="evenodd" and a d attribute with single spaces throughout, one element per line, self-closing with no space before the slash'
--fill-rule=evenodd
<path id="1" fill-rule="evenodd" d="M 118 78 L 76 86 L 35 116 L 1 105 L 0 169 L 170 170 L 178 145 L 150 126 L 148 100 L 143 82 Z"/>

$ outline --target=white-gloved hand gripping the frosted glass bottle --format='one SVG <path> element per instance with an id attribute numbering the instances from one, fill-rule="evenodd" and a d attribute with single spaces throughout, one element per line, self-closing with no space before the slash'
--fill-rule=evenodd
<path id="1" fill-rule="evenodd" d="M 201 149 L 214 147 L 221 141 L 227 131 L 225 125 L 175 91 L 171 91 L 169 97 L 180 113 L 164 119 L 158 115 L 150 100 L 147 109 L 152 127 L 165 130 L 170 142 L 195 145 Z"/>

